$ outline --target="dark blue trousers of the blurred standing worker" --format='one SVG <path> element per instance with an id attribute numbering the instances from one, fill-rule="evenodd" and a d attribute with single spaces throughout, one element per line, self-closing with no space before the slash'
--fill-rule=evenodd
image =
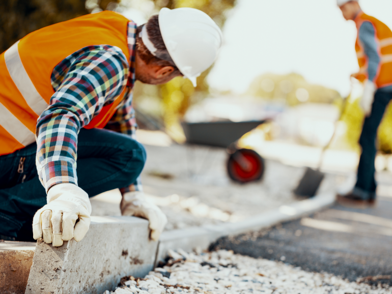
<path id="1" fill-rule="evenodd" d="M 392 92 L 382 92 L 378 90 L 374 96 L 372 112 L 363 122 L 362 133 L 359 144 L 362 147 L 362 154 L 359 159 L 357 182 L 354 191 L 363 199 L 375 197 L 376 180 L 374 161 L 376 159 L 377 129 L 381 123 L 385 109 L 392 99 Z"/>

